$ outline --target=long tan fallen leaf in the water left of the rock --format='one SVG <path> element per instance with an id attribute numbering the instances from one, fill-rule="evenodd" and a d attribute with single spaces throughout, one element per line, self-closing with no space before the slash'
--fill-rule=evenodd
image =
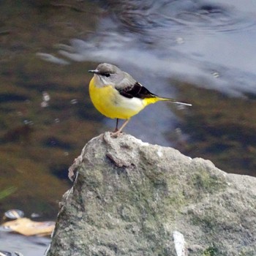
<path id="1" fill-rule="evenodd" d="M 50 236 L 55 222 L 34 222 L 28 218 L 15 219 L 1 225 L 24 236 Z"/>

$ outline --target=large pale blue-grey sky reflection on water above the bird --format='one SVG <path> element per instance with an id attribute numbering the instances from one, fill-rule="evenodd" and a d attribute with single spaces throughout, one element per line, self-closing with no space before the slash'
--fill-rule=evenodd
<path id="1" fill-rule="evenodd" d="M 97 33 L 62 45 L 60 53 L 75 61 L 132 64 L 231 95 L 255 93 L 256 7 L 244 10 L 246 3 L 109 1 L 110 15 Z"/>

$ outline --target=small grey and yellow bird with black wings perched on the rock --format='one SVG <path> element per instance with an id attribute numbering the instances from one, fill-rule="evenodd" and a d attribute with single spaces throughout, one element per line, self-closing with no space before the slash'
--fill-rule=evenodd
<path id="1" fill-rule="evenodd" d="M 180 105 L 192 106 L 176 99 L 159 97 L 153 94 L 127 72 L 109 63 L 102 63 L 94 70 L 89 70 L 94 76 L 89 83 L 89 95 L 94 107 L 108 118 L 116 118 L 118 135 L 128 124 L 132 116 L 137 115 L 147 105 L 159 101 L 168 101 Z M 125 119 L 118 129 L 118 120 Z"/>

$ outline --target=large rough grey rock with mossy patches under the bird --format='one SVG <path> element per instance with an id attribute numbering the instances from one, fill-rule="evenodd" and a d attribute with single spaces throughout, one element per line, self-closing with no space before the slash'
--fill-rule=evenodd
<path id="1" fill-rule="evenodd" d="M 48 256 L 256 254 L 256 179 L 106 132 L 69 169 Z"/>

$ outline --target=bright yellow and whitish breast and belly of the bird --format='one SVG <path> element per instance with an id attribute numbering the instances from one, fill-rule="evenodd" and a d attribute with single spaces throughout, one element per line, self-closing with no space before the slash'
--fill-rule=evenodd
<path id="1" fill-rule="evenodd" d="M 112 86 L 98 88 L 94 86 L 94 78 L 89 84 L 89 94 L 94 107 L 109 118 L 128 119 L 143 110 L 148 104 L 159 101 L 159 98 L 138 99 L 121 96 Z"/>

